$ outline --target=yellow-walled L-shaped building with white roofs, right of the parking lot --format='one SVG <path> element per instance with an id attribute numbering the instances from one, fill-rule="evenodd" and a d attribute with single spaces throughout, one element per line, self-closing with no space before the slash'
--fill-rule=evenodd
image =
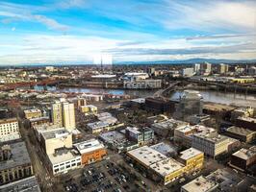
<path id="1" fill-rule="evenodd" d="M 192 148 L 182 152 L 178 160 L 167 157 L 148 146 L 129 151 L 127 155 L 149 178 L 164 185 L 201 169 L 204 159 L 202 152 Z"/>

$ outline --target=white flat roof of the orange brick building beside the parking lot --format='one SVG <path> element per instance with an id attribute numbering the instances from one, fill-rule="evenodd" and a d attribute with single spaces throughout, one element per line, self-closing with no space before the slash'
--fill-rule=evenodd
<path id="1" fill-rule="evenodd" d="M 80 143 L 74 144 L 75 148 L 80 154 L 87 154 L 96 150 L 104 149 L 104 145 L 101 144 L 97 139 L 90 139 Z"/>

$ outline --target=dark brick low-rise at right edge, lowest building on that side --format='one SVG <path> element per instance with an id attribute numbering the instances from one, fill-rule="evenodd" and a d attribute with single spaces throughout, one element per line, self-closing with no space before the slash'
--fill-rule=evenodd
<path id="1" fill-rule="evenodd" d="M 231 156 L 230 165 L 239 170 L 246 170 L 256 163 L 256 146 L 241 149 Z"/>

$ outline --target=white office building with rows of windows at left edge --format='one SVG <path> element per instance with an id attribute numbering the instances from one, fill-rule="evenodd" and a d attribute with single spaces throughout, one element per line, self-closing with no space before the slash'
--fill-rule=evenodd
<path id="1" fill-rule="evenodd" d="M 0 142 L 20 138 L 18 121 L 16 118 L 0 120 Z"/>

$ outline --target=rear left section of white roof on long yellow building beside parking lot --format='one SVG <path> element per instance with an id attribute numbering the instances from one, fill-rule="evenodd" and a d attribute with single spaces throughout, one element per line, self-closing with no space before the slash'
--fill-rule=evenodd
<path id="1" fill-rule="evenodd" d="M 167 157 L 148 146 L 131 150 L 127 154 L 139 160 L 144 166 L 150 166 L 156 162 L 166 159 Z"/>

